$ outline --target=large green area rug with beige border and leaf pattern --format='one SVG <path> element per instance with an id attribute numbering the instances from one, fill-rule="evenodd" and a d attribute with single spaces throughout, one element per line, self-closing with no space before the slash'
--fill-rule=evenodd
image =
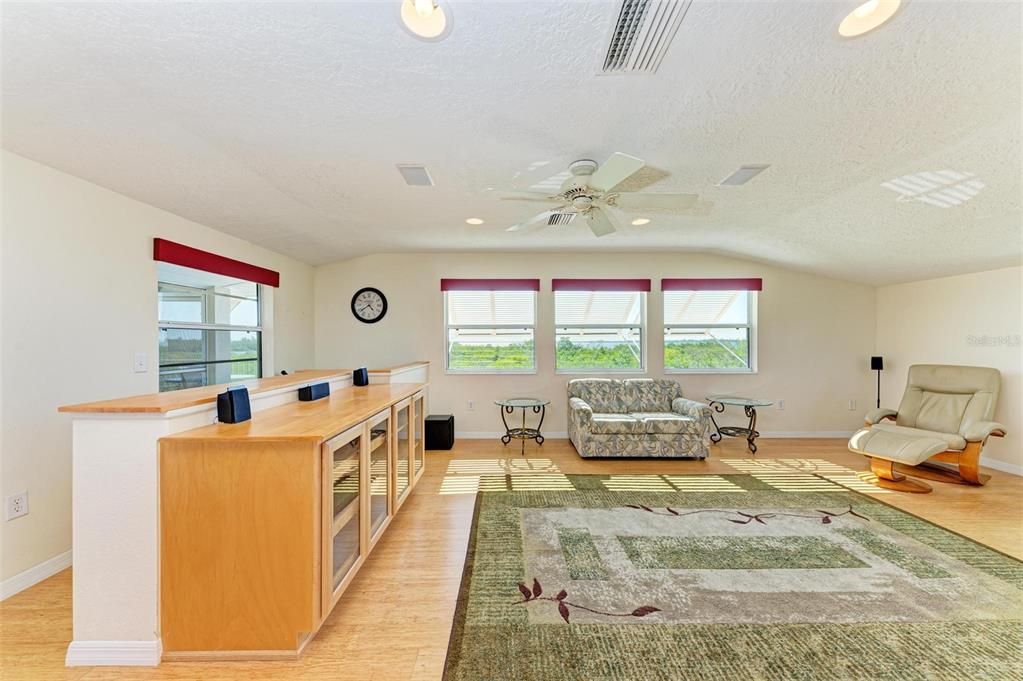
<path id="1" fill-rule="evenodd" d="M 641 478 L 480 492 L 446 681 L 1023 678 L 1020 561 L 852 491 Z"/>

